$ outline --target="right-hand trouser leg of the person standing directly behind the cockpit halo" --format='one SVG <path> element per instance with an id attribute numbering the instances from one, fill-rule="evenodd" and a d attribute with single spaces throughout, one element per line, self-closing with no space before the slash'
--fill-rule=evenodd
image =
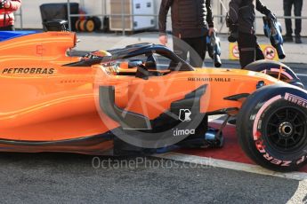
<path id="1" fill-rule="evenodd" d="M 190 65 L 203 67 L 206 57 L 206 36 L 190 38 Z"/>

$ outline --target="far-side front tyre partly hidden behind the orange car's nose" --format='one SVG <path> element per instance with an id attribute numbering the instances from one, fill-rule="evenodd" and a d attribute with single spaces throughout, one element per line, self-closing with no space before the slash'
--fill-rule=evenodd
<path id="1" fill-rule="evenodd" d="M 283 82 L 287 82 L 302 89 L 304 88 L 303 83 L 297 75 L 295 75 L 295 72 L 290 67 L 287 67 L 287 65 L 279 61 L 268 59 L 258 60 L 247 65 L 244 69 L 254 72 L 262 72 L 266 75 L 271 75 L 274 78 L 279 78 Z"/>

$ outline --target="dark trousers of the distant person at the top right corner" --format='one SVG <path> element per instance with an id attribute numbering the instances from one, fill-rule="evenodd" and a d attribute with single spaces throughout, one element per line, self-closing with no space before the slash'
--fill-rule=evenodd
<path id="1" fill-rule="evenodd" d="M 295 16 L 302 16 L 303 0 L 284 0 L 285 16 L 291 16 L 292 5 L 295 6 Z M 292 20 L 286 19 L 286 35 L 292 35 Z M 295 20 L 295 35 L 300 35 L 302 31 L 302 20 Z"/>

